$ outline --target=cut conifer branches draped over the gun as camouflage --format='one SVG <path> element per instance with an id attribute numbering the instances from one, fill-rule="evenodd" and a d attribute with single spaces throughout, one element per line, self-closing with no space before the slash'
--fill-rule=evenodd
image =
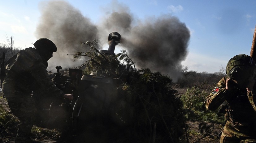
<path id="1" fill-rule="evenodd" d="M 95 48 L 95 42 L 83 44 L 88 45 L 90 51 L 76 53 L 75 58 L 90 58 L 84 63 L 85 73 L 122 81 L 117 84 L 117 89 L 121 89 L 124 94 L 117 97 L 134 108 L 132 117 L 135 117 L 127 137 L 140 134 L 150 143 L 163 142 L 163 139 L 164 142 L 177 142 L 183 132 L 181 128 L 184 128 L 183 114 L 180 111 L 183 104 L 177 98 L 177 91 L 170 87 L 172 80 L 159 72 L 151 72 L 148 68 L 136 70 L 135 63 L 125 50 L 116 55 L 107 55 Z"/>

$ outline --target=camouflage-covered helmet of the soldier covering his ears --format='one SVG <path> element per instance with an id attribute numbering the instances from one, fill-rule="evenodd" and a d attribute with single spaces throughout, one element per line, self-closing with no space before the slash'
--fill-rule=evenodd
<path id="1" fill-rule="evenodd" d="M 244 84 L 255 70 L 254 60 L 245 54 L 236 55 L 228 61 L 226 74 L 237 84 Z"/>

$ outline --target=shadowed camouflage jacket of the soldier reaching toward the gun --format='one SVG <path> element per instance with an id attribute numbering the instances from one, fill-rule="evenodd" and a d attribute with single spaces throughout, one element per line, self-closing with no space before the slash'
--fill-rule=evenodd
<path id="1" fill-rule="evenodd" d="M 7 74 L 2 90 L 6 97 L 33 94 L 50 97 L 63 96 L 63 91 L 53 85 L 46 71 L 47 65 L 35 48 L 21 50 L 7 63 Z"/>

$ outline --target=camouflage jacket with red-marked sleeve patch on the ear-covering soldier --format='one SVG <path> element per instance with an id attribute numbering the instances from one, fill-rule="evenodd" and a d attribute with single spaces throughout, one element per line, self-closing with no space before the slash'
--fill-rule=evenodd
<path id="1" fill-rule="evenodd" d="M 205 106 L 209 110 L 216 110 L 224 102 L 228 102 L 229 108 L 226 110 L 225 118 L 238 123 L 255 124 L 256 112 L 254 111 L 248 99 L 246 89 L 234 89 L 228 91 L 226 89 L 226 79 L 223 77 L 211 91 L 210 95 L 204 100 Z M 254 86 L 254 90 L 255 86 Z"/>

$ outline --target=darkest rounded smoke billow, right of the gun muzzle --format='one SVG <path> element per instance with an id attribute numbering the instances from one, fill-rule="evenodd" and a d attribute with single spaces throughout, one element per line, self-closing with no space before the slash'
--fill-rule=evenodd
<path id="1" fill-rule="evenodd" d="M 185 24 L 166 15 L 139 23 L 123 43 L 139 68 L 147 67 L 176 80 L 187 54 L 189 37 Z"/>

